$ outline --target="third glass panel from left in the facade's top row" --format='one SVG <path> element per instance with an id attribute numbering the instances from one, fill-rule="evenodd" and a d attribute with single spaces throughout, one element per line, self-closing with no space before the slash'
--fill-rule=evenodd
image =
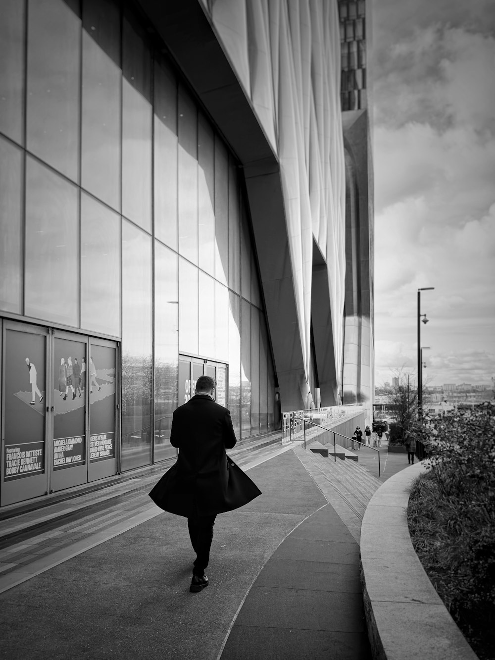
<path id="1" fill-rule="evenodd" d="M 120 211 L 120 17 L 108 0 L 84 0 L 81 185 Z"/>

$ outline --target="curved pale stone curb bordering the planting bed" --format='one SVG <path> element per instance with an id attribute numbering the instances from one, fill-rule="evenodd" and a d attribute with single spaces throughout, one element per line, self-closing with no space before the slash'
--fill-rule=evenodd
<path id="1" fill-rule="evenodd" d="M 426 575 L 409 535 L 407 504 L 422 463 L 377 490 L 362 521 L 361 585 L 374 660 L 478 660 Z"/>

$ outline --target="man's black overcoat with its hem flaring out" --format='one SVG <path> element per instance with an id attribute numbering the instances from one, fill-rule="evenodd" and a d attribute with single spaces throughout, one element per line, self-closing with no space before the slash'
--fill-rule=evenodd
<path id="1" fill-rule="evenodd" d="M 174 411 L 170 442 L 178 447 L 172 465 L 150 492 L 164 511 L 193 517 L 232 511 L 261 494 L 248 475 L 228 459 L 236 444 L 230 411 L 211 397 L 195 395 Z"/>

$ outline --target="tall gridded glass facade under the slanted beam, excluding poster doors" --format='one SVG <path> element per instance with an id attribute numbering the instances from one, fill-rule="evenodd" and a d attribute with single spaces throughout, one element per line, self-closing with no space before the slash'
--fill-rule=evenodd
<path id="1" fill-rule="evenodd" d="M 273 428 L 248 206 L 215 126 L 121 3 L 7 0 L 2 19 L 0 313 L 121 342 L 122 470 L 176 453 L 179 354 L 227 365 L 238 438 Z"/>

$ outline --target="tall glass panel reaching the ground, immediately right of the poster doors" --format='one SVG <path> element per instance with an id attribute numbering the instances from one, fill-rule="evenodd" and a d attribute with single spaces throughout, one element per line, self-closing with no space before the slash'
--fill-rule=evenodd
<path id="1" fill-rule="evenodd" d="M 151 463 L 151 238 L 122 224 L 122 469 Z"/>

